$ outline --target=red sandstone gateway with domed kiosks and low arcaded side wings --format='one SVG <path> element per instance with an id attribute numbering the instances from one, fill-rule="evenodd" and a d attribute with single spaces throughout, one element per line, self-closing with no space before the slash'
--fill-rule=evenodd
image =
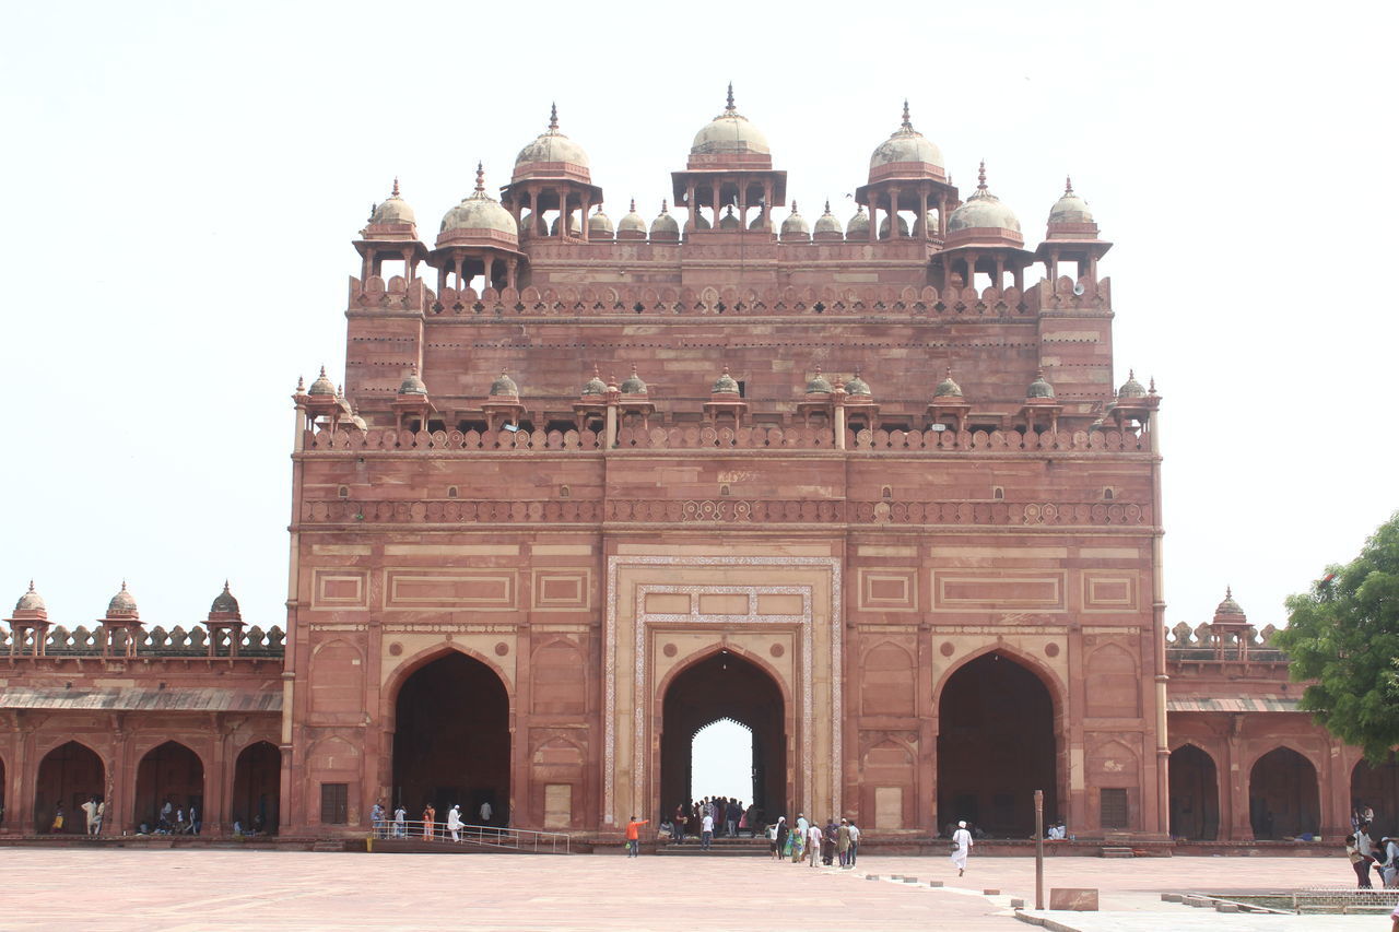
<path id="1" fill-rule="evenodd" d="M 431 246 L 395 182 L 344 388 L 292 397 L 285 645 L 227 588 L 171 631 L 125 588 L 50 627 L 31 591 L 0 830 L 83 831 L 95 796 L 105 833 L 171 800 L 360 834 L 383 800 L 617 840 L 691 798 L 719 718 L 764 814 L 866 838 L 1024 837 L 1035 789 L 1080 838 L 1339 835 L 1353 793 L 1395 819 L 1393 768 L 1297 711 L 1231 598 L 1165 631 L 1160 399 L 1112 389 L 1111 243 L 1070 185 L 1027 249 L 905 105 L 853 217 L 809 225 L 732 90 L 672 178 L 614 224 L 554 113 Z"/>

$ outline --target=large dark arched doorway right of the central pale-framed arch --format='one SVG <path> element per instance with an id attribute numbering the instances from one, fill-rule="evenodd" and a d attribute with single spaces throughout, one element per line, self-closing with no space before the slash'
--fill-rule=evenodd
<path id="1" fill-rule="evenodd" d="M 965 819 L 995 837 L 1035 828 L 1059 812 L 1053 698 L 1038 676 L 999 652 L 965 663 L 937 700 L 939 828 Z"/>

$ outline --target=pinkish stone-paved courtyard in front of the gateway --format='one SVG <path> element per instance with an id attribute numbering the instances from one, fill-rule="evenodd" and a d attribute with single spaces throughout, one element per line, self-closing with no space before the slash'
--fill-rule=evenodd
<path id="1" fill-rule="evenodd" d="M 853 872 L 760 858 L 604 855 L 364 855 L 278 851 L 0 848 L 0 929 L 1031 929 L 1034 861 L 866 856 Z M 867 880 L 911 875 L 919 884 Z M 1093 886 L 1100 914 L 1052 914 L 1067 928 L 1340 932 L 1379 917 L 1223 915 L 1164 904 L 1161 891 L 1277 890 L 1353 882 L 1343 856 L 1051 858 L 1048 886 Z M 940 879 L 949 889 L 933 890 Z M 995 887 L 1002 896 L 985 896 Z"/>

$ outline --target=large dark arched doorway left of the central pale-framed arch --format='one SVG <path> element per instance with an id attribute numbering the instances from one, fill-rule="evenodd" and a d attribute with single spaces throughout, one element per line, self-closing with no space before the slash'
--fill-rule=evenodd
<path id="1" fill-rule="evenodd" d="M 395 705 L 393 799 L 410 819 L 428 802 L 445 820 L 453 805 L 463 821 L 509 824 L 511 701 L 501 677 L 464 654 L 448 654 L 418 669 Z"/>

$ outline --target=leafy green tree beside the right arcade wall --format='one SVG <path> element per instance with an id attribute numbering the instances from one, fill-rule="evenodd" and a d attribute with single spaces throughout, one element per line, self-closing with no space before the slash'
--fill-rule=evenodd
<path id="1" fill-rule="evenodd" d="M 1399 512 L 1358 557 L 1326 570 L 1309 592 L 1288 596 L 1277 645 L 1291 677 L 1311 682 L 1302 708 L 1381 763 L 1399 746 Z"/>

